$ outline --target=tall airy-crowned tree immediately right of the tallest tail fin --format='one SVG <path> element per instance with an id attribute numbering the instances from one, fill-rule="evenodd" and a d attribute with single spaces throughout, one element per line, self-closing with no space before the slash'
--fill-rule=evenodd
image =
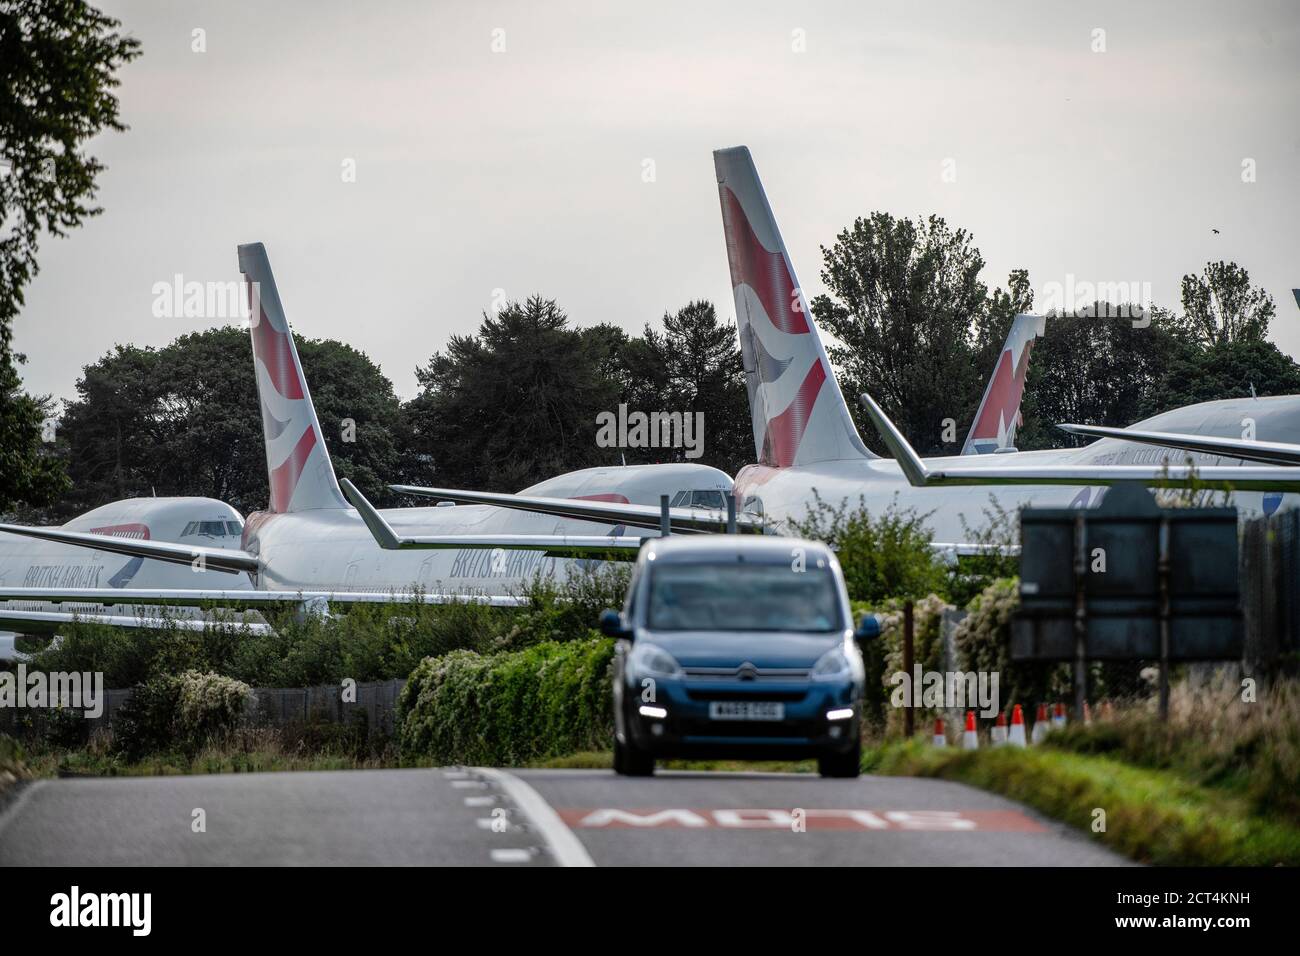
<path id="1" fill-rule="evenodd" d="M 944 420 L 958 428 L 968 421 L 989 373 L 972 362 L 988 289 L 970 234 L 939 216 L 913 221 L 874 212 L 823 246 L 822 256 L 831 297 L 819 295 L 812 312 L 838 339 L 828 354 L 861 416 L 858 431 L 884 450 L 857 402 L 870 392 L 918 450 L 940 449 Z"/>

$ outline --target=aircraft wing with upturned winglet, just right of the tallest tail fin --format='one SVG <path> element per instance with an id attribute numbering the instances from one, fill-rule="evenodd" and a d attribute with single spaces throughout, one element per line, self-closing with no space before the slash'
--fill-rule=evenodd
<path id="1" fill-rule="evenodd" d="M 1000 464 L 991 467 L 945 467 L 930 470 L 907 444 L 902 432 L 871 395 L 861 395 L 862 407 L 880 438 L 893 453 L 907 483 L 918 488 L 940 485 L 1113 485 L 1141 481 L 1164 488 L 1213 488 L 1236 492 L 1300 492 L 1300 468 L 1284 466 L 1188 466 L 1143 464 Z"/>

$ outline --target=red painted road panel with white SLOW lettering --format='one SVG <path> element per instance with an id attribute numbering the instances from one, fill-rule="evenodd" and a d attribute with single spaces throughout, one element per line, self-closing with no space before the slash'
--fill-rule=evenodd
<path id="1" fill-rule="evenodd" d="M 567 808 L 556 810 L 569 827 L 585 830 L 922 830 L 1043 832 L 1019 810 L 827 810 L 827 809 L 685 809 Z M 800 816 L 801 814 L 801 816 Z"/>

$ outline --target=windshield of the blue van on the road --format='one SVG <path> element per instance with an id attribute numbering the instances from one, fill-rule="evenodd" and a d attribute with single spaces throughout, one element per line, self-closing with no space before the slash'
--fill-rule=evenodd
<path id="1" fill-rule="evenodd" d="M 844 627 L 829 568 L 789 564 L 660 564 L 650 575 L 655 631 L 803 631 Z"/>

